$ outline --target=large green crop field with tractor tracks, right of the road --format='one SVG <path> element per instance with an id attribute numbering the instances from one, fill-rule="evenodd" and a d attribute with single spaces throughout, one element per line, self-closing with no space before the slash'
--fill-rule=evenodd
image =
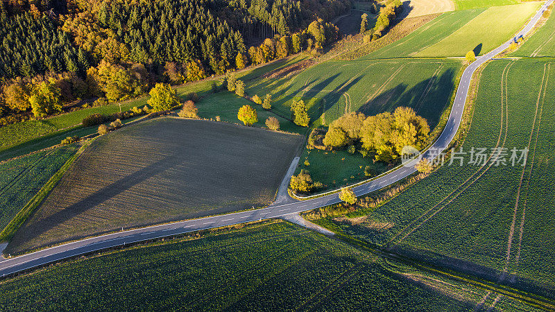
<path id="1" fill-rule="evenodd" d="M 465 164 L 439 168 L 364 223 L 342 225 L 345 232 L 555 297 L 555 254 L 546 243 L 555 240 L 554 100 L 555 64 L 489 64 L 463 144 Z M 490 155 L 495 146 L 506 148 L 506 166 L 468 164 L 472 147 Z M 529 148 L 526 166 L 512 166 L 513 148 Z"/>

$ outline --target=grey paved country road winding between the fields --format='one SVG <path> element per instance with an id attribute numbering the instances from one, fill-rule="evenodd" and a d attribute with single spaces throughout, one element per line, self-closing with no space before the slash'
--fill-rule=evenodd
<path id="1" fill-rule="evenodd" d="M 540 19 L 545 8 L 547 8 L 547 6 L 552 3 L 552 1 L 554 0 L 547 1 L 540 8 L 540 10 L 538 10 L 536 15 L 534 15 L 529 23 L 524 26 L 524 28 L 522 28 L 522 31 L 518 33 L 517 37 L 520 35 L 525 35 L 529 33 L 529 31 L 531 31 L 533 26 L 536 25 L 536 23 Z M 445 126 L 445 129 L 443 130 L 437 141 L 432 144 L 430 150 L 444 150 L 450 144 L 450 141 L 452 141 L 452 139 L 454 138 L 456 131 L 459 130 L 459 125 L 463 116 L 466 98 L 468 96 L 468 89 L 470 87 L 470 78 L 472 78 L 472 74 L 481 64 L 484 64 L 484 62 L 491 60 L 495 55 L 508 48 L 512 40 L 513 39 L 511 38 L 511 40 L 505 42 L 497 49 L 477 58 L 475 62 L 473 62 L 472 64 L 470 64 L 469 67 L 466 68 L 461 78 L 461 83 L 459 84 L 459 87 L 456 91 L 456 98 L 449 116 L 449 120 L 447 121 L 447 125 Z M 432 155 L 429 151 L 425 152 L 422 157 L 434 159 L 434 155 Z M 353 191 L 355 191 L 357 196 L 362 196 L 366 193 L 382 189 L 389 184 L 402 180 L 404 177 L 411 175 L 415 171 L 416 170 L 413 168 L 413 166 L 402 167 L 396 171 L 393 171 L 392 173 L 379 177 L 377 180 L 373 180 L 366 184 L 362 184 L 359 187 L 355 187 Z M 234 225 L 238 223 L 246 223 L 267 218 L 276 218 L 287 214 L 294 214 L 301 211 L 307 211 L 318 207 L 336 204 L 338 202 L 341 202 L 341 200 L 339 200 L 338 194 L 335 193 L 328 196 L 323 196 L 321 198 L 293 202 L 285 205 L 276 205 L 265 209 L 243 211 L 234 214 L 225 214 L 223 216 L 213 216 L 196 220 L 187 220 L 177 223 L 157 225 L 153 227 L 145 227 L 142 229 L 133 229 L 103 236 L 96 236 L 90 239 L 83 239 L 81 241 L 58 245 L 56 247 L 40 250 L 30 254 L 24 254 L 19 257 L 12 257 L 8 259 L 0 258 L 0 277 L 35 268 L 37 266 L 43 266 L 47 263 L 59 261 L 61 259 L 76 257 L 80 254 L 87 254 L 89 252 L 103 250 L 114 246 L 136 243 L 139 241 L 146 241 L 150 239 L 159 239 L 165 236 L 184 234 L 187 232 L 197 231 L 199 229 L 210 229 L 214 227 L 222 227 L 225 225 Z"/>

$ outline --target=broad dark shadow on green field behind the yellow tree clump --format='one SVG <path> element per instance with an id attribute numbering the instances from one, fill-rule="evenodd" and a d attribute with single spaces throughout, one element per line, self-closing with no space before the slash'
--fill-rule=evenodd
<path id="1" fill-rule="evenodd" d="M 454 70 L 448 69 L 441 76 L 422 80 L 409 89 L 407 85 L 400 83 L 366 102 L 358 111 L 366 116 L 373 116 L 381 112 L 393 112 L 400 106 L 412 107 L 417 114 L 427 119 L 433 129 L 450 103 L 454 77 Z"/>

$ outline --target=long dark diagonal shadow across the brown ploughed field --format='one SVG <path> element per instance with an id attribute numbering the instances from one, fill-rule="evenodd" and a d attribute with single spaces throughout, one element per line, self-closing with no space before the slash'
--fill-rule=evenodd
<path id="1" fill-rule="evenodd" d="M 33 221 L 32 218 L 30 218 L 29 220 L 31 221 L 31 223 L 26 223 L 24 227 L 19 229 L 17 235 L 10 243 L 10 249 L 17 249 L 18 245 L 23 245 L 26 241 L 28 241 L 29 238 L 37 238 L 42 234 L 48 232 L 50 229 L 53 229 L 60 224 L 66 223 L 76 216 L 86 214 L 89 209 L 94 209 L 94 207 L 97 207 L 103 202 L 106 202 L 114 198 L 115 196 L 118 196 L 119 194 L 127 191 L 131 187 L 134 187 L 135 185 L 148 180 L 148 178 L 154 177 L 164 171 L 171 169 L 172 166 L 169 162 L 170 158 L 171 157 L 164 157 L 160 160 L 157 160 L 156 162 L 153 162 L 152 164 L 149 164 L 144 168 L 139 169 L 139 171 L 136 171 L 135 173 L 124 175 L 119 180 L 105 185 L 98 191 L 95 191 L 85 198 L 81 198 L 73 205 L 69 205 L 69 207 L 61 207 L 62 209 L 56 211 L 54 214 L 51 214 L 46 218 L 42 218 L 36 221 Z M 77 166 L 74 166 L 72 170 L 80 169 Z M 64 185 L 58 184 L 58 186 L 53 191 L 63 191 L 65 193 L 71 192 L 71 189 L 60 190 L 60 187 L 64 187 Z M 53 194 L 51 193 L 51 195 Z M 43 205 L 45 204 L 49 204 L 49 201 L 46 200 L 45 202 L 43 202 L 39 209 L 42 209 Z M 79 236 L 79 234 L 76 234 L 76 236 Z M 63 241 L 67 241 L 67 238 L 60 238 L 58 241 L 49 241 L 48 239 L 46 239 L 44 243 L 41 243 L 40 245 L 35 245 L 33 247 L 42 248 L 46 245 L 62 243 Z"/>

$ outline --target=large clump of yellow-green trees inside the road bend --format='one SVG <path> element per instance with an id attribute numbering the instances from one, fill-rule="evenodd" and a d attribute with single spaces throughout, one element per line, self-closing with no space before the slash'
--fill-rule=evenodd
<path id="1" fill-rule="evenodd" d="M 405 146 L 419 150 L 429 139 L 429 125 L 410 107 L 398 107 L 393 114 L 383 112 L 364 116 L 351 112 L 330 124 L 323 144 L 332 148 L 361 146 L 361 153 L 373 153 L 376 161 L 391 162 L 402 155 Z"/>

